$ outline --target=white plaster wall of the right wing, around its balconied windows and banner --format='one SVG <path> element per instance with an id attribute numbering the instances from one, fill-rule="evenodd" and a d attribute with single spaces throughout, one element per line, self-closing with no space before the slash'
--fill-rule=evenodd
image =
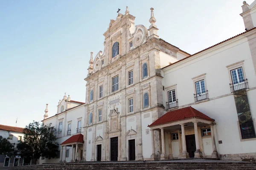
<path id="1" fill-rule="evenodd" d="M 236 38 L 234 39 L 236 40 Z M 212 48 L 213 50 L 214 48 Z M 227 65 L 244 60 L 244 75 L 249 88 L 256 87 L 256 76 L 247 38 L 234 41 L 230 45 L 205 53 L 201 57 L 191 57 L 175 65 L 164 68 L 163 85 L 177 84 L 176 97 L 179 106 L 191 105 L 207 116 L 215 119 L 215 143 L 220 154 L 255 153 L 255 140 L 240 141 L 238 117 L 234 96 L 230 93 L 230 76 Z M 202 53 L 202 54 L 203 54 Z M 193 59 L 195 58 L 195 59 Z M 210 101 L 194 104 L 194 83 L 192 78 L 206 74 L 206 85 Z M 182 76 L 181 76 L 182 75 Z M 252 117 L 256 118 L 256 90 L 247 91 Z M 215 97 L 220 97 L 213 99 Z M 166 104 L 166 91 L 163 91 L 163 103 Z M 222 140 L 222 144 L 218 141 Z"/>

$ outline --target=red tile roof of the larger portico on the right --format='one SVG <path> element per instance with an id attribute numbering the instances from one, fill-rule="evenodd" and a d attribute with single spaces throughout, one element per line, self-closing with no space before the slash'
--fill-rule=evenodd
<path id="1" fill-rule="evenodd" d="M 192 118 L 208 120 L 211 122 L 215 121 L 214 119 L 211 119 L 210 117 L 206 116 L 204 113 L 201 113 L 200 111 L 189 106 L 186 108 L 181 108 L 181 109 L 177 109 L 177 110 L 169 111 L 165 113 L 159 119 L 154 121 L 151 125 L 148 125 L 148 127 L 163 125 L 167 123 L 172 123 L 172 122 L 177 122 L 177 121 L 192 119 Z"/>

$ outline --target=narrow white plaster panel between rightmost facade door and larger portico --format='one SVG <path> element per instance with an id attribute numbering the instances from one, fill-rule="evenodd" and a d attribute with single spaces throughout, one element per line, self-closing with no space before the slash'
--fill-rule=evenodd
<path id="1" fill-rule="evenodd" d="M 148 116 L 149 114 L 149 116 Z M 145 118 L 144 118 L 145 117 Z M 152 123 L 152 113 L 146 112 L 141 114 L 141 131 L 142 131 L 142 154 L 143 158 L 150 158 L 152 154 L 151 150 L 151 131 L 148 125 Z M 149 133 L 146 134 L 146 130 L 149 130 Z"/>

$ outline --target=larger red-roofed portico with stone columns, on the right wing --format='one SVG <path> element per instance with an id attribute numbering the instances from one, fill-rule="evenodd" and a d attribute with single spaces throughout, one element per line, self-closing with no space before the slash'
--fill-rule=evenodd
<path id="1" fill-rule="evenodd" d="M 211 119 L 192 107 L 169 111 L 151 125 L 148 125 L 148 127 L 151 128 L 151 159 L 157 159 L 154 145 L 157 140 L 160 141 L 160 148 L 162 148 L 160 159 L 173 159 L 174 157 L 182 159 L 193 157 L 200 158 L 203 156 L 217 158 L 218 153 L 213 128 L 214 122 L 214 119 Z M 204 128 L 207 131 L 202 137 L 202 129 Z M 155 130 L 160 131 L 160 139 L 154 138 Z M 204 137 L 211 139 L 210 142 L 205 142 L 204 140 L 207 145 L 212 145 L 212 154 L 210 156 L 209 154 L 204 154 L 204 146 L 206 146 L 206 152 L 209 153 L 209 146 L 205 145 L 203 142 Z M 175 146 L 172 146 L 172 144 L 175 144 Z M 173 155 L 173 150 L 176 150 L 175 156 Z M 178 155 L 177 152 L 179 153 Z"/>

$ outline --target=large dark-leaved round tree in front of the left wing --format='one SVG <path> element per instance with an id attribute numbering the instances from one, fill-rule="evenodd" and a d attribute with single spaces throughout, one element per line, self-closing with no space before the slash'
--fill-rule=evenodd
<path id="1" fill-rule="evenodd" d="M 17 144 L 17 150 L 22 158 L 38 160 L 40 156 L 49 159 L 57 156 L 56 129 L 51 124 L 33 121 L 26 125 L 23 133 L 23 141 Z"/>

